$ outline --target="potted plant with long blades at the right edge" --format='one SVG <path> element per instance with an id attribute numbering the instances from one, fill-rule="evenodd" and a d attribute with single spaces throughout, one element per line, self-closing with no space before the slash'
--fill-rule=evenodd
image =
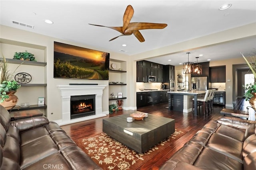
<path id="1" fill-rule="evenodd" d="M 243 54 L 242 56 L 244 57 Z M 255 79 L 256 78 L 256 51 L 251 53 L 250 58 L 248 59 L 244 57 L 244 60 L 246 61 L 247 65 L 252 71 Z M 246 84 L 244 88 L 246 90 L 246 92 L 244 93 L 244 96 L 246 97 L 246 101 L 249 100 L 250 105 L 256 110 L 256 82 Z"/>

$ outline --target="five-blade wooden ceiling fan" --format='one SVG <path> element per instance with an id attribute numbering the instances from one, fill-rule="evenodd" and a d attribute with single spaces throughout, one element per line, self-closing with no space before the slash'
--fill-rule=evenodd
<path id="1" fill-rule="evenodd" d="M 132 6 L 128 5 L 124 12 L 123 26 L 122 27 L 108 27 L 108 28 L 114 29 L 122 34 L 110 39 L 109 41 L 112 41 L 120 36 L 134 34 L 135 37 L 140 42 L 144 42 L 145 39 L 143 38 L 142 34 L 139 31 L 140 29 L 163 29 L 167 26 L 166 23 L 130 22 L 133 14 L 134 14 L 134 10 L 133 10 Z M 90 24 L 90 25 L 95 25 L 95 24 Z M 107 26 L 103 26 L 103 25 L 95 25 L 95 26 L 107 27 Z"/>

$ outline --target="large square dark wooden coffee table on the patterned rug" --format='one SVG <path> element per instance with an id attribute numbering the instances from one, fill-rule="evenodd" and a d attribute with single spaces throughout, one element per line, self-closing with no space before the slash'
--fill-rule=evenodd
<path id="1" fill-rule="evenodd" d="M 103 119 L 102 131 L 139 153 L 150 149 L 175 131 L 174 119 L 148 114 L 143 120 L 128 123 L 127 117 L 130 114 Z"/>

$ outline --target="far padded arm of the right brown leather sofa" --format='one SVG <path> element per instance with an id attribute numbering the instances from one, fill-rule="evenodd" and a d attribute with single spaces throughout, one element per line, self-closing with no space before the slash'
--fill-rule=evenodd
<path id="1" fill-rule="evenodd" d="M 227 125 L 245 131 L 250 125 L 255 124 L 256 121 L 250 121 L 245 119 L 240 119 L 238 117 L 228 117 L 224 116 L 217 120 L 218 123 L 222 125 Z"/>

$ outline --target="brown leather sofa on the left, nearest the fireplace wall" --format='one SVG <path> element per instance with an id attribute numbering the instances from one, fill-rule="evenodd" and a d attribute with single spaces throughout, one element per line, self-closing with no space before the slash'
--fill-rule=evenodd
<path id="1" fill-rule="evenodd" d="M 57 123 L 44 116 L 10 121 L 0 105 L 1 170 L 102 170 Z"/>

